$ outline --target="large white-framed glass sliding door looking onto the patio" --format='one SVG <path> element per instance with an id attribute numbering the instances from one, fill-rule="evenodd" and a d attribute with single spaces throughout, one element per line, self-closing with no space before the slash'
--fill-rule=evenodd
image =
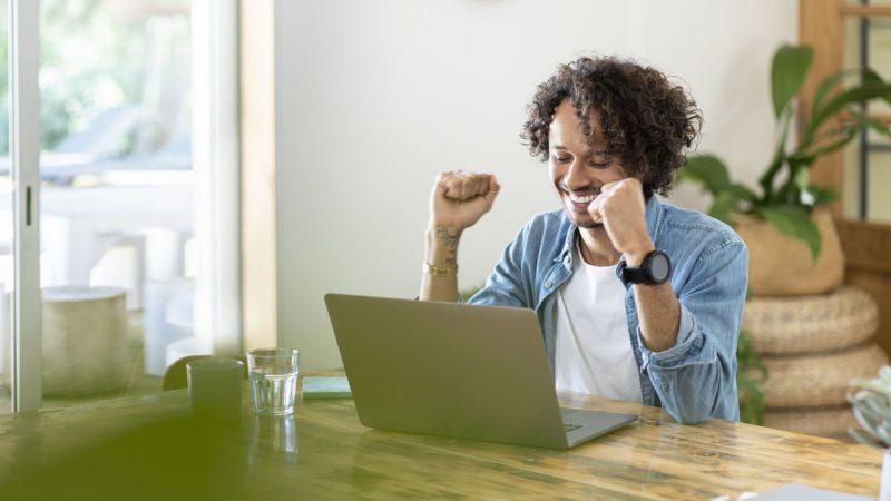
<path id="1" fill-rule="evenodd" d="M 40 283 L 36 272 L 16 281 L 32 299 L 18 302 L 29 312 L 11 307 L 20 324 L 1 345 L 26 350 L 0 362 L 0 409 L 23 393 L 30 396 L 19 410 L 39 406 L 41 394 L 66 404 L 156 391 L 179 356 L 241 351 L 237 301 L 218 306 L 237 299 L 237 281 L 224 279 L 237 277 L 238 254 L 218 252 L 237 240 L 237 217 L 219 215 L 221 207 L 237 214 L 235 2 L 43 0 L 37 11 L 37 2 L 10 1 L 16 19 L 40 27 L 39 43 L 36 29 L 11 38 L 40 52 L 39 68 L 26 52 L 26 69 L 11 75 L 14 81 L 32 68 L 39 82 L 39 141 L 19 146 L 39 166 L 17 168 L 20 178 L 32 176 L 40 246 L 10 253 L 39 261 Z M 38 99 L 22 88 L 10 102 L 27 122 L 37 118 Z M 224 144 L 227 155 L 219 154 Z M 0 155 L 14 153 L 9 146 L 0 141 Z M 23 196 L 21 180 L 8 168 L 0 174 L 7 191 Z M 21 267 L 16 261 L 0 261 L 0 279 Z M 13 303 L 25 292 L 16 291 Z M 226 328 L 224 310 L 236 318 Z M 40 318 L 42 343 L 35 344 L 21 333 Z M 16 364 L 25 370 L 18 382 Z"/>

